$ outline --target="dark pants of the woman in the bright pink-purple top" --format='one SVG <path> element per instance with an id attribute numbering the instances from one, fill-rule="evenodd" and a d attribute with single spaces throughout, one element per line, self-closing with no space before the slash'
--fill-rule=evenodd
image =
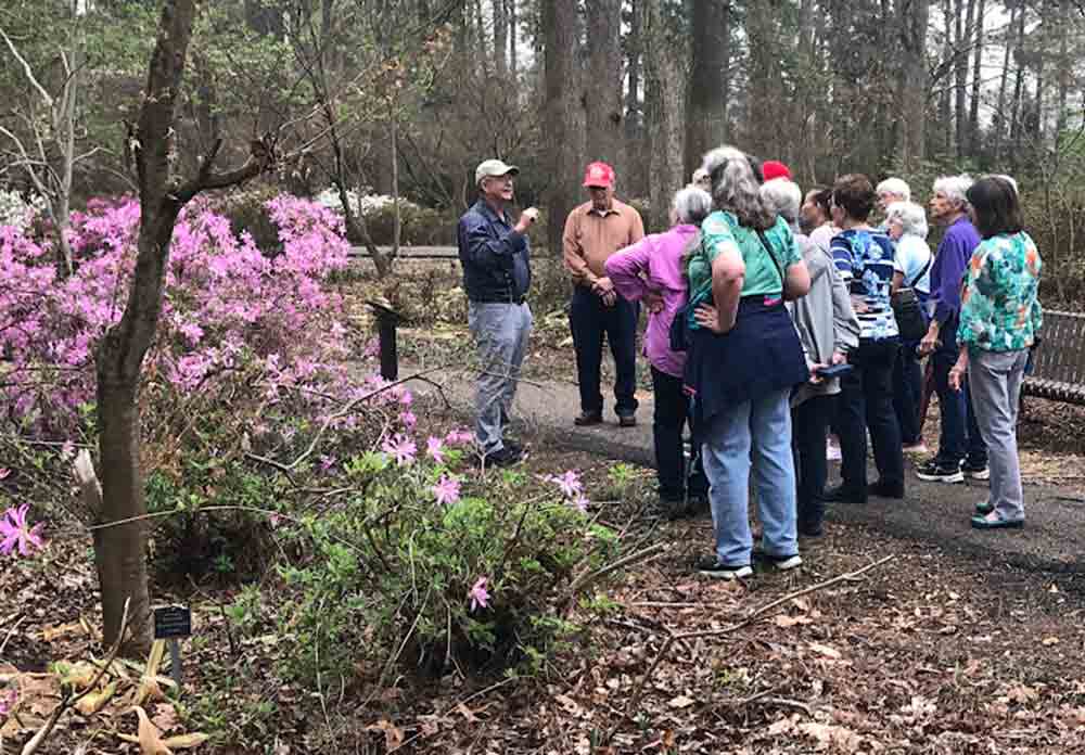
<path id="1" fill-rule="evenodd" d="M 700 452 L 694 455 L 689 488 L 686 486 L 686 455 L 681 432 L 689 422 L 689 399 L 682 393 L 681 383 L 681 378 L 652 368 L 652 387 L 655 395 L 655 413 L 652 417 L 655 469 L 660 481 L 660 498 L 667 501 L 685 500 L 687 492 L 691 498 L 703 497 L 709 491 Z"/>

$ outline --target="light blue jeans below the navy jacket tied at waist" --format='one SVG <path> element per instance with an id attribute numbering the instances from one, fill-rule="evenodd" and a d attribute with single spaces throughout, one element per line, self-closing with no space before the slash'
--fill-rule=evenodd
<path id="1" fill-rule="evenodd" d="M 790 388 L 745 401 L 717 414 L 701 455 L 716 534 L 716 558 L 729 566 L 750 564 L 750 470 L 757 497 L 765 552 L 799 553 L 795 532 L 795 466 L 791 456 Z"/>

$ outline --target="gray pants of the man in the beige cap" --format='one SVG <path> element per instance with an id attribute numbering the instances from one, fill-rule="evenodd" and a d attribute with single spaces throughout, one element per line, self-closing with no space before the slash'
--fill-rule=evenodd
<path id="1" fill-rule="evenodd" d="M 520 366 L 527 353 L 532 310 L 526 304 L 471 302 L 468 325 L 478 348 L 475 386 L 475 440 L 483 453 L 505 447 L 501 418 L 509 417 Z"/>

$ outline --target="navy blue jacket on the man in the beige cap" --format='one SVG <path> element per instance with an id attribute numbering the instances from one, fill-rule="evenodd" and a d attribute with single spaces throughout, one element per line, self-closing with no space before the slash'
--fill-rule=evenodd
<path id="1" fill-rule="evenodd" d="M 522 302 L 532 282 L 527 236 L 478 200 L 457 227 L 463 290 L 472 302 Z"/>

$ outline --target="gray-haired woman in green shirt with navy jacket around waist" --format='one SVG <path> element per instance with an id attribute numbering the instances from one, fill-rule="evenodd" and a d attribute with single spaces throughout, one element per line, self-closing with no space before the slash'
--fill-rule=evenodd
<path id="1" fill-rule="evenodd" d="M 736 579 L 752 574 L 751 470 L 765 554 L 781 570 L 802 564 L 788 400 L 809 371 L 783 300 L 805 295 L 809 274 L 788 223 L 762 201 L 750 158 L 723 146 L 703 167 L 716 210 L 701 223 L 687 268 L 693 312 L 686 389 L 716 542 L 697 567 Z"/>

